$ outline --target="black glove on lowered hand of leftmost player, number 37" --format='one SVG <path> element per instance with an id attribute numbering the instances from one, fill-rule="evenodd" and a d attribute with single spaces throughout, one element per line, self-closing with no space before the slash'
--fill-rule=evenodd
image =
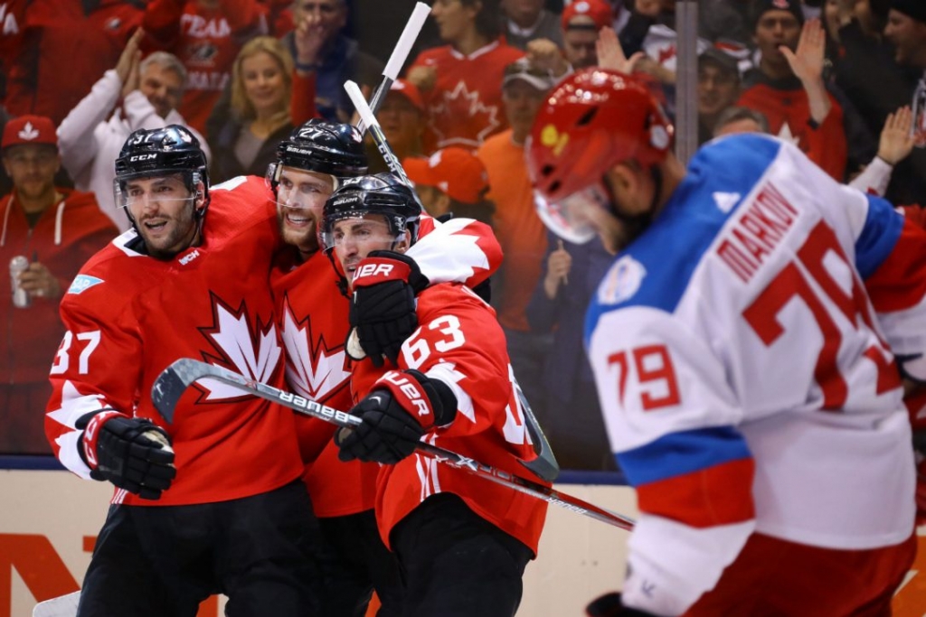
<path id="1" fill-rule="evenodd" d="M 78 451 L 94 480 L 156 500 L 177 475 L 167 432 L 149 420 L 107 409 L 81 416 L 75 426 L 83 429 Z"/>

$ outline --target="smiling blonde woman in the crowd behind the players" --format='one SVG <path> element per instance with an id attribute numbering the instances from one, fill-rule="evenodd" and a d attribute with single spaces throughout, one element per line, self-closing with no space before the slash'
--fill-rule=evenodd
<path id="1" fill-rule="evenodd" d="M 242 47 L 232 68 L 232 118 L 212 144 L 214 181 L 264 175 L 294 129 L 292 88 L 293 58 L 278 39 L 259 36 Z"/>

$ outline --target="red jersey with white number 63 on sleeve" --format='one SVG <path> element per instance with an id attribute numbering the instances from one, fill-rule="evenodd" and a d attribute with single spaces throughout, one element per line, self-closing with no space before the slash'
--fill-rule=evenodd
<path id="1" fill-rule="evenodd" d="M 492 308 L 465 286 L 434 285 L 419 293 L 418 319 L 418 330 L 402 346 L 399 368 L 441 379 L 457 396 L 454 422 L 424 439 L 511 474 L 526 474 L 515 459 L 536 455 L 512 383 L 505 335 Z M 355 363 L 355 401 L 369 394 L 384 373 L 369 360 Z M 395 524 L 441 492 L 458 495 L 473 512 L 537 552 L 545 501 L 419 454 L 380 468 L 376 517 L 386 546 Z"/>

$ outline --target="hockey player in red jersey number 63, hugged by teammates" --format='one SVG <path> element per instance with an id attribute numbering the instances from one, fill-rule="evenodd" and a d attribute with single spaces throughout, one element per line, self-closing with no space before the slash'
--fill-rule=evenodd
<path id="1" fill-rule="evenodd" d="M 420 215 L 411 191 L 390 174 L 344 179 L 325 203 L 323 249 L 355 290 L 367 280 L 414 281 L 413 266 L 379 252 L 406 253 Z M 376 517 L 402 566 L 403 614 L 510 617 L 546 503 L 414 453 L 424 438 L 523 473 L 516 459 L 534 454 L 505 338 L 488 304 L 461 284 L 419 291 L 417 321 L 394 370 L 371 358 L 352 364 L 351 411 L 363 424 L 340 434 L 340 457 L 385 463 Z M 355 343 L 347 351 L 362 357 Z"/>

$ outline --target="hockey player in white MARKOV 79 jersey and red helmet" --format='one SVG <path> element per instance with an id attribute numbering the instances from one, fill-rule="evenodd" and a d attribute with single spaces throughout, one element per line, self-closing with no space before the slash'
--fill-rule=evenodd
<path id="1" fill-rule="evenodd" d="M 671 133 L 644 87 L 588 69 L 528 154 L 548 226 L 618 253 L 585 332 L 641 511 L 619 614 L 889 615 L 926 235 L 790 144 L 728 137 L 686 169 Z"/>

